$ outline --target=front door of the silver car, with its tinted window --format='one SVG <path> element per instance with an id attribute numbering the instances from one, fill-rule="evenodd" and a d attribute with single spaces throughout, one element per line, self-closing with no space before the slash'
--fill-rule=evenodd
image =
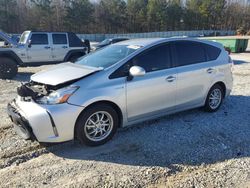
<path id="1" fill-rule="evenodd" d="M 174 110 L 177 74 L 170 51 L 169 44 L 162 44 L 131 60 L 131 66 L 143 67 L 146 74 L 126 82 L 128 121 Z"/>

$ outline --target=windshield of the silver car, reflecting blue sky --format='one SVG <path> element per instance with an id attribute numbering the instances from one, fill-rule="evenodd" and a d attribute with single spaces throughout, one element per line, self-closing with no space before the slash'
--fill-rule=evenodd
<path id="1" fill-rule="evenodd" d="M 84 56 L 76 63 L 91 67 L 107 68 L 135 52 L 140 46 L 111 45 Z"/>

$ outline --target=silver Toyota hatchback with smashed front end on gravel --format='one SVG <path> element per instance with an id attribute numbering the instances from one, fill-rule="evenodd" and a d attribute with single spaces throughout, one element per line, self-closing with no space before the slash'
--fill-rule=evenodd
<path id="1" fill-rule="evenodd" d="M 232 63 L 211 41 L 128 40 L 32 75 L 8 114 L 24 139 L 97 146 L 119 127 L 197 107 L 217 111 L 232 89 Z"/>

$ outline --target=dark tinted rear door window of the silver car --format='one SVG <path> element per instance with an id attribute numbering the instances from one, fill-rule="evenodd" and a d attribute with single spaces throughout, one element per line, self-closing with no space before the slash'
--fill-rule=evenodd
<path id="1" fill-rule="evenodd" d="M 199 42 L 175 42 L 177 66 L 185 66 L 206 61 L 205 49 Z"/>

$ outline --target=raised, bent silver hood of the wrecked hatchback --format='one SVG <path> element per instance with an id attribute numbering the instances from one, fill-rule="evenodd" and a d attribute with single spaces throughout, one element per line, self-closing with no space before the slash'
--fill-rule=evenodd
<path id="1" fill-rule="evenodd" d="M 83 66 L 68 62 L 38 72 L 31 76 L 31 80 L 46 85 L 56 86 L 82 78 L 100 70 L 102 70 L 102 68 Z"/>

